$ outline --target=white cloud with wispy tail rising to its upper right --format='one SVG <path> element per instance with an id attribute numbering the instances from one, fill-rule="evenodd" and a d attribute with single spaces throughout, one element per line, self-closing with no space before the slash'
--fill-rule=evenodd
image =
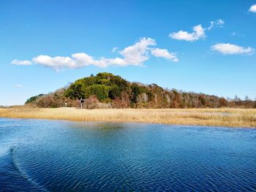
<path id="1" fill-rule="evenodd" d="M 214 28 L 215 26 L 223 26 L 224 23 L 224 20 L 211 21 L 211 25 L 208 28 L 203 28 L 203 26 L 199 24 L 192 28 L 193 31 L 191 33 L 181 30 L 178 32 L 170 33 L 169 37 L 176 40 L 195 42 L 206 37 L 206 30 L 211 31 L 211 28 Z"/>

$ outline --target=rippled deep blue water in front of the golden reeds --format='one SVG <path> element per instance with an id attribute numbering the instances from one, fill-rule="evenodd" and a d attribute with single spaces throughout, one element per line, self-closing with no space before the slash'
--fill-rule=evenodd
<path id="1" fill-rule="evenodd" d="M 0 118 L 0 191 L 256 191 L 256 129 Z"/>

